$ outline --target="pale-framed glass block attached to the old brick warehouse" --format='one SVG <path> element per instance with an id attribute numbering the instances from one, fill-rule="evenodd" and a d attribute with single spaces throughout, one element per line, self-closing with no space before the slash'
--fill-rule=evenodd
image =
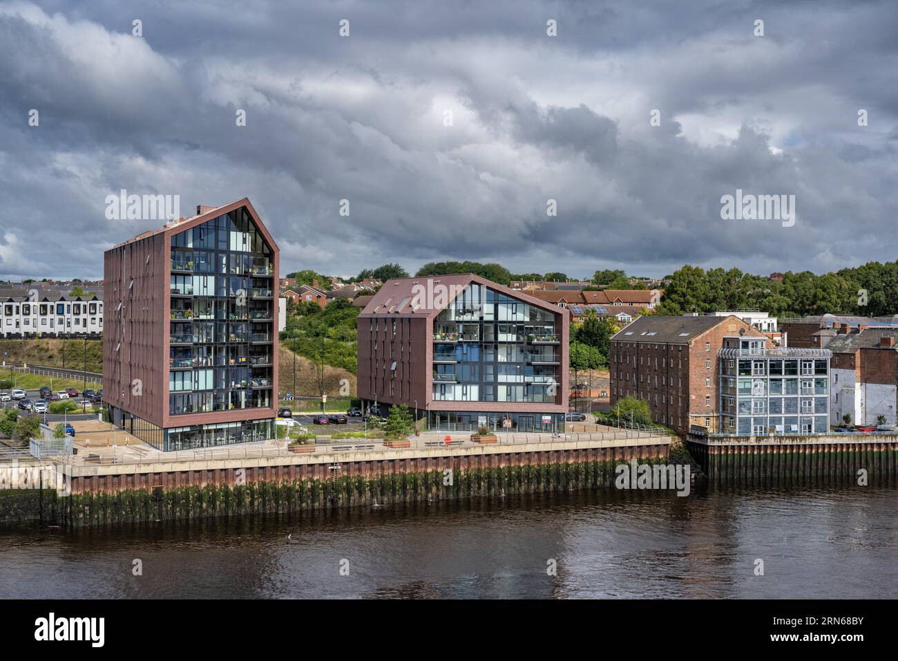
<path id="1" fill-rule="evenodd" d="M 756 344 L 720 350 L 721 432 L 827 433 L 832 353 Z"/>

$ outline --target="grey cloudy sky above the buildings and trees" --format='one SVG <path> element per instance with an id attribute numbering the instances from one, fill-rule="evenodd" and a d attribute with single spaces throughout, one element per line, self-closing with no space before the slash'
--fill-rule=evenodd
<path id="1" fill-rule="evenodd" d="M 0 277 L 101 277 L 161 225 L 121 189 L 249 197 L 282 272 L 898 256 L 894 2 L 286 4 L 0 2 Z M 736 189 L 795 225 L 721 219 Z"/>

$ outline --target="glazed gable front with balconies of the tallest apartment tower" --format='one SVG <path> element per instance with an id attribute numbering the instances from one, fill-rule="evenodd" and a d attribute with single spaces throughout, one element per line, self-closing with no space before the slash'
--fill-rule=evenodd
<path id="1" fill-rule="evenodd" d="M 169 413 L 272 406 L 271 248 L 245 208 L 172 237 Z"/>

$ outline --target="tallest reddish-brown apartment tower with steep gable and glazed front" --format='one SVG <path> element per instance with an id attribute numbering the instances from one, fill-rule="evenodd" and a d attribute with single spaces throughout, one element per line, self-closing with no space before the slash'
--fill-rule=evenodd
<path id="1" fill-rule="evenodd" d="M 277 245 L 246 198 L 107 250 L 113 424 L 166 451 L 274 437 L 277 269 Z"/>

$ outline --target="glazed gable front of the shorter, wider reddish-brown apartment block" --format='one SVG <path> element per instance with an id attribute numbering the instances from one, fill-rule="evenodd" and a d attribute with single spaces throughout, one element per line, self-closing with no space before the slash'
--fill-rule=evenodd
<path id="1" fill-rule="evenodd" d="M 560 332 L 550 310 L 471 284 L 436 317 L 433 334 L 435 402 L 558 402 Z"/>

